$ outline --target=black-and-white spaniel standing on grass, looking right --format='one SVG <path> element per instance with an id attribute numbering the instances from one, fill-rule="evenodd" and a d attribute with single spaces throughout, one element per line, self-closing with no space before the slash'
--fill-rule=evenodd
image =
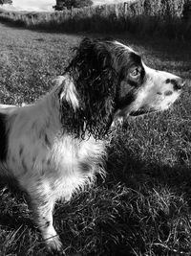
<path id="1" fill-rule="evenodd" d="M 111 127 L 118 119 L 167 109 L 184 81 L 146 66 L 130 47 L 84 38 L 53 90 L 32 105 L 0 105 L 0 174 L 17 180 L 51 250 L 56 200 L 104 175 Z"/>

